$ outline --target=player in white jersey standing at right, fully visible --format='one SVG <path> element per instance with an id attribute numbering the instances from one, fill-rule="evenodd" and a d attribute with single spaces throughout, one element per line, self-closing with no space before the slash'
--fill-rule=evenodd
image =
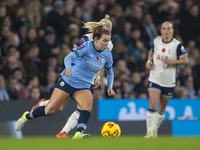
<path id="1" fill-rule="evenodd" d="M 156 138 L 157 130 L 165 115 L 166 106 L 173 97 L 176 85 L 177 65 L 187 64 L 187 52 L 183 45 L 173 38 L 174 30 L 170 22 L 164 22 L 160 29 L 161 35 L 154 39 L 149 51 L 146 68 L 149 75 L 149 108 L 147 111 L 145 138 Z M 158 110 L 157 101 L 159 99 Z"/>

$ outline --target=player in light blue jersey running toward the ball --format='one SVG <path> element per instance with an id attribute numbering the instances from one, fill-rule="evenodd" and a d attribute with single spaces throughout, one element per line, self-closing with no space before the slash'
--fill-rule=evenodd
<path id="1" fill-rule="evenodd" d="M 93 29 L 94 41 L 83 43 L 65 57 L 65 69 L 61 73 L 61 78 L 58 80 L 47 106 L 40 106 L 32 112 L 25 112 L 16 122 L 16 131 L 21 130 L 30 119 L 53 115 L 65 102 L 65 99 L 72 96 L 77 105 L 82 109 L 78 120 L 77 132 L 73 139 L 87 136 L 87 134 L 83 133 L 92 111 L 93 97 L 90 92 L 90 86 L 92 79 L 103 67 L 105 67 L 107 72 L 107 93 L 109 96 L 115 95 L 115 92 L 112 90 L 114 79 L 112 54 L 107 49 L 111 33 L 103 23 L 93 25 Z M 72 62 L 75 65 L 72 65 Z"/>

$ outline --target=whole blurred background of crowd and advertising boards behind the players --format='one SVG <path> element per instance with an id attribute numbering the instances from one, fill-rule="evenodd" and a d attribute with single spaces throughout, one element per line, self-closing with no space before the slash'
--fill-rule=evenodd
<path id="1" fill-rule="evenodd" d="M 30 121 L 21 132 L 14 131 L 14 124 L 39 99 L 49 99 L 64 69 L 64 57 L 87 32 L 82 22 L 100 21 L 105 14 L 113 23 L 116 95 L 106 95 L 103 77 L 94 93 L 87 132 L 100 135 L 103 123 L 115 121 L 122 128 L 122 135 L 145 134 L 145 62 L 153 39 L 160 34 L 161 23 L 167 20 L 174 25 L 175 38 L 186 48 L 189 64 L 177 68 L 176 99 L 170 100 L 158 133 L 199 136 L 199 6 L 199 0 L 1 0 L 0 136 L 54 136 L 60 131 L 76 109 L 73 101 L 63 112 Z"/>

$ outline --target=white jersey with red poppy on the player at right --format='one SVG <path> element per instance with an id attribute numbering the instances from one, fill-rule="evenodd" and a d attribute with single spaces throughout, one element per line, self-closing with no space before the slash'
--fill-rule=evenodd
<path id="1" fill-rule="evenodd" d="M 151 52 L 153 53 L 153 68 L 150 71 L 149 81 L 162 87 L 174 87 L 177 78 L 177 65 L 164 64 L 163 60 L 165 58 L 178 60 L 187 56 L 185 48 L 175 38 L 164 43 L 162 37 L 159 37 L 154 39 Z"/>

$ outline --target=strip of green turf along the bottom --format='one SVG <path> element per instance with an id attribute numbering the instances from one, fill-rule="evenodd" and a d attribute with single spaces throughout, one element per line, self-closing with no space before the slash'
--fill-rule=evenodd
<path id="1" fill-rule="evenodd" d="M 1 150 L 198 150 L 200 138 L 124 136 L 116 139 L 90 137 L 81 140 L 56 139 L 54 137 L 24 137 L 14 139 L 0 137 Z"/>

